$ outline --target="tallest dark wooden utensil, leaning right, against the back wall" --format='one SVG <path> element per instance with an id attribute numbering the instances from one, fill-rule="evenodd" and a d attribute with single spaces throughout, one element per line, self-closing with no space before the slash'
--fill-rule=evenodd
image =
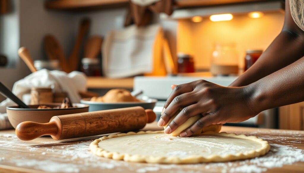
<path id="1" fill-rule="evenodd" d="M 70 67 L 70 71 L 77 70 L 78 64 L 79 64 L 79 51 L 81 43 L 87 34 L 89 28 L 90 28 L 90 20 L 85 18 L 81 20 L 80 28 L 78 31 L 77 39 L 74 44 L 74 48 L 71 52 L 71 55 L 69 56 L 68 63 Z"/>

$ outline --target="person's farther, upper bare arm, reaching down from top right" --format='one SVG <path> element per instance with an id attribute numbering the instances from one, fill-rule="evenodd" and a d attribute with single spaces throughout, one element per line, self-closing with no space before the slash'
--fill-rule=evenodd
<path id="1" fill-rule="evenodd" d="M 304 56 L 304 32 L 295 24 L 286 1 L 285 23 L 282 32 L 275 38 L 261 57 L 243 75 L 229 86 L 249 85 Z"/>

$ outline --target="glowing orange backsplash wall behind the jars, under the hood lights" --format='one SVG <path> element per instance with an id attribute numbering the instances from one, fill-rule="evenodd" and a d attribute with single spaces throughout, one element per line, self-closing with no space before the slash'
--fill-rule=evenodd
<path id="1" fill-rule="evenodd" d="M 234 15 L 231 21 L 212 22 L 204 17 L 202 22 L 179 20 L 177 28 L 177 52 L 194 55 L 195 68 L 208 70 L 215 43 L 236 44 L 239 68 L 244 67 L 247 49 L 265 50 L 281 32 L 283 12 L 267 12 L 261 18 L 249 18 L 247 14 Z"/>

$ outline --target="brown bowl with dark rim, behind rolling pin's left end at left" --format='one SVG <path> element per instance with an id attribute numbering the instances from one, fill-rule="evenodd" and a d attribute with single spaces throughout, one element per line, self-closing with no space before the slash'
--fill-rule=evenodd
<path id="1" fill-rule="evenodd" d="M 49 107 L 60 106 L 61 103 L 47 103 L 41 104 Z M 14 128 L 23 121 L 33 121 L 39 123 L 47 123 L 53 116 L 77 114 L 81 112 L 88 112 L 89 105 L 73 104 L 77 108 L 64 109 L 37 109 L 39 105 L 29 105 L 29 109 L 20 108 L 19 106 L 10 106 L 6 108 L 9 122 Z"/>

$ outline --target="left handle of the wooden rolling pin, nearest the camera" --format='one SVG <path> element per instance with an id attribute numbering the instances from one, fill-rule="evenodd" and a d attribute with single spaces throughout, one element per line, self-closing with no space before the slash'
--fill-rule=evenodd
<path id="1" fill-rule="evenodd" d="M 37 123 L 32 121 L 25 121 L 17 125 L 16 135 L 23 141 L 36 139 L 43 135 L 56 136 L 58 133 L 57 124 L 55 121 L 48 123 Z"/>

